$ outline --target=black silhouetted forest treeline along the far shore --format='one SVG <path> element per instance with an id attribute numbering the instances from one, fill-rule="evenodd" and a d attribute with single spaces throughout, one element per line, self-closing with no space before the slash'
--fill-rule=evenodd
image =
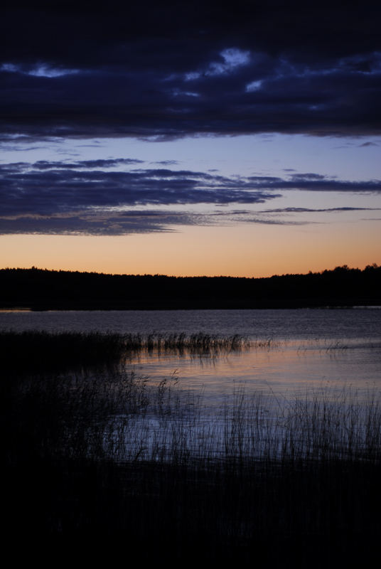
<path id="1" fill-rule="evenodd" d="M 0 270 L 0 306 L 32 309 L 206 309 L 381 304 L 381 267 L 346 265 L 269 278 Z"/>

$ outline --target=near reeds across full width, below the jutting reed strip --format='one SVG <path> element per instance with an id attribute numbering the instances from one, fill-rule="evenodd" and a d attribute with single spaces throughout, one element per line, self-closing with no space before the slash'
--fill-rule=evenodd
<path id="1" fill-rule="evenodd" d="M 121 364 L 2 385 L 9 386 L 9 437 L 23 433 L 38 454 L 211 468 L 381 459 L 376 390 L 321 388 L 286 401 L 236 388 L 220 407 L 208 407 L 202 394 L 181 388 L 176 374 L 154 383 Z"/>

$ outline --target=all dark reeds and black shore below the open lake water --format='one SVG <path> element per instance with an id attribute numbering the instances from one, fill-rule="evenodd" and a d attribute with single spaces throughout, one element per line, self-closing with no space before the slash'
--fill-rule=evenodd
<path id="1" fill-rule="evenodd" d="M 2 334 L 0 346 L 10 349 L 11 336 Z M 363 400 L 318 390 L 279 405 L 237 390 L 205 420 L 181 378 L 155 383 L 127 371 L 121 336 L 13 334 L 19 358 L 28 338 L 58 360 L 54 371 L 9 366 L 1 380 L 3 515 L 21 543 L 58 543 L 67 553 L 80 544 L 87 559 L 103 547 L 106 560 L 118 551 L 169 565 L 336 567 L 374 553 L 379 393 Z M 165 338 L 154 347 L 148 338 L 136 341 L 138 351 L 162 349 Z M 205 353 L 204 341 L 194 352 Z M 178 345 L 176 336 L 168 349 Z"/>

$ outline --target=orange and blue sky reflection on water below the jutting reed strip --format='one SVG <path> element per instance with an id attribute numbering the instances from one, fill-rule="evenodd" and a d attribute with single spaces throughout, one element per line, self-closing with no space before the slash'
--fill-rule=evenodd
<path id="1" fill-rule="evenodd" d="M 352 435 L 356 452 L 363 450 L 368 404 L 381 393 L 380 347 L 289 341 L 217 357 L 141 354 L 127 369 L 148 378 L 152 393 L 166 378 L 172 408 L 167 414 L 166 403 L 162 410 L 156 405 L 134 419 L 128 456 L 144 449 L 146 456 L 160 452 L 171 459 L 173 445 L 201 458 L 242 452 L 267 459 L 291 448 L 319 456 L 326 452 L 327 429 L 333 457 L 346 456 Z M 373 409 L 370 416 L 378 420 L 377 403 Z"/>

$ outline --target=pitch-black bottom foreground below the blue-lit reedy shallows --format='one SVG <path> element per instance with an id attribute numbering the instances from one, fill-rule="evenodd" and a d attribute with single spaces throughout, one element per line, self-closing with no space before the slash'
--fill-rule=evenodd
<path id="1" fill-rule="evenodd" d="M 380 468 L 352 462 L 204 470 L 35 458 L 4 482 L 8 536 L 79 544 L 90 559 L 364 566 L 381 529 Z"/>

